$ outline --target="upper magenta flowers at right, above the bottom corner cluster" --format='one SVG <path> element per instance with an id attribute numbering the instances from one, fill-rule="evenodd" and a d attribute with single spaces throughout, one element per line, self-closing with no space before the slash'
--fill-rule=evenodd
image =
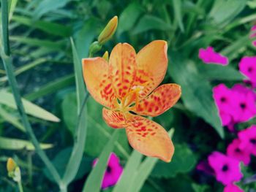
<path id="1" fill-rule="evenodd" d="M 256 37 L 256 26 L 253 30 L 255 34 L 251 36 Z M 228 64 L 228 58 L 214 52 L 213 47 L 200 49 L 198 56 L 206 64 Z M 241 58 L 239 70 L 248 78 L 245 82 L 249 82 L 250 88 L 236 84 L 229 89 L 224 84 L 220 84 L 213 89 L 222 126 L 227 126 L 230 131 L 234 131 L 236 123 L 245 122 L 256 116 L 256 93 L 252 90 L 256 88 L 256 56 Z"/>

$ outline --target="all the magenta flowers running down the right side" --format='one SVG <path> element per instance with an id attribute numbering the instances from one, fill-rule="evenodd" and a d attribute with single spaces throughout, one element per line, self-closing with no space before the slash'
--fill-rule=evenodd
<path id="1" fill-rule="evenodd" d="M 256 37 L 256 26 L 252 28 L 250 38 Z M 252 42 L 256 47 L 256 41 Z M 213 47 L 199 50 L 199 58 L 205 64 L 228 64 L 228 58 L 214 52 Z M 214 101 L 217 104 L 222 126 L 236 131 L 234 125 L 255 118 L 256 116 L 256 56 L 241 58 L 239 71 L 247 77 L 246 84 L 236 84 L 227 88 L 219 84 L 213 88 Z M 208 161 L 202 161 L 197 169 L 214 175 L 225 185 L 224 192 L 243 192 L 235 183 L 243 177 L 241 163 L 248 166 L 251 155 L 256 155 L 256 125 L 238 131 L 236 139 L 227 146 L 226 154 L 214 151 L 208 155 Z"/>

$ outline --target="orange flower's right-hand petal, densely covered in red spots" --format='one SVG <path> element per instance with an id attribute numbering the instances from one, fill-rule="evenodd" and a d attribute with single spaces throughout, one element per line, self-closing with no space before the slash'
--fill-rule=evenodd
<path id="1" fill-rule="evenodd" d="M 148 97 L 139 101 L 135 112 L 140 115 L 155 117 L 161 115 L 181 97 L 181 86 L 170 83 L 159 86 Z"/>

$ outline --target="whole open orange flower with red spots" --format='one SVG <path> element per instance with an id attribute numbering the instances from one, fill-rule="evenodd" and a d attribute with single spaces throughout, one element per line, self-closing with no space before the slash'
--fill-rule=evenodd
<path id="1" fill-rule="evenodd" d="M 157 40 L 134 48 L 119 43 L 109 62 L 84 58 L 83 77 L 91 96 L 103 108 L 105 122 L 113 128 L 125 128 L 129 144 L 144 155 L 170 162 L 174 147 L 165 128 L 140 115 L 155 117 L 173 107 L 181 96 L 177 84 L 162 82 L 167 70 L 167 43 Z M 138 115 L 134 115 L 138 114 Z"/>

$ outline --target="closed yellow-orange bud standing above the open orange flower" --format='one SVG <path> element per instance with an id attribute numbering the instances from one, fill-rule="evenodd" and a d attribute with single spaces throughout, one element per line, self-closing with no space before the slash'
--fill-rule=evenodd
<path id="1" fill-rule="evenodd" d="M 108 40 L 115 34 L 116 28 L 118 24 L 118 18 L 117 16 L 113 17 L 105 26 L 103 31 L 99 34 L 98 42 L 99 44 L 103 45 L 105 42 L 108 42 Z"/>

